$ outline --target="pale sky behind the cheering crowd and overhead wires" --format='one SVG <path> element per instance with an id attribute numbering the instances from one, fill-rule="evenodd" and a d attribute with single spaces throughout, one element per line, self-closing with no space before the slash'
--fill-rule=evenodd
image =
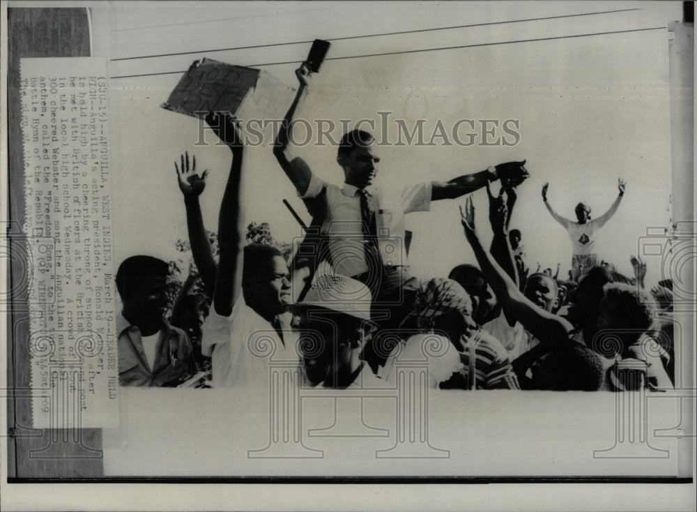
<path id="1" fill-rule="evenodd" d="M 513 20 L 606 13 L 510 23 Z M 583 200 L 593 216 L 615 199 L 617 179 L 627 194 L 613 220 L 600 232 L 599 257 L 631 275 L 629 255 L 647 227 L 668 225 L 671 158 L 666 29 L 611 35 L 490 44 L 608 31 L 666 27 L 682 18 L 680 2 L 492 2 L 492 3 L 197 3 L 118 2 L 93 9 L 95 56 L 110 59 L 175 52 L 171 57 L 110 62 L 110 117 L 116 260 L 134 254 L 176 257 L 174 242 L 186 236 L 185 209 L 176 183 L 174 160 L 189 151 L 198 168 L 208 169 L 201 195 L 204 222 L 217 229 L 217 214 L 231 156 L 225 147 L 195 146 L 196 119 L 163 110 L 160 104 L 181 73 L 116 78 L 124 75 L 183 71 L 209 57 L 258 66 L 296 86 L 293 70 L 310 43 L 213 52 L 220 48 L 270 45 L 323 38 L 332 41 L 328 57 L 489 45 L 382 57 L 326 61 L 313 75 L 305 119 L 378 119 L 390 111 L 413 126 L 424 119 L 431 134 L 441 119 L 518 119 L 516 146 L 386 147 L 381 149 L 382 186 L 447 180 L 509 160 L 528 160 L 528 179 L 519 187 L 511 227 L 521 229 L 528 265 L 561 263 L 570 267 L 571 243 L 546 212 L 540 190 L 549 181 L 549 202 L 574 218 Z M 508 22 L 508 23 L 500 23 Z M 496 24 L 491 24 L 496 23 Z M 478 27 L 391 36 L 336 40 L 346 36 L 434 29 L 463 24 Z M 282 112 L 283 114 L 284 112 Z M 340 134 L 337 134 L 340 136 Z M 395 136 L 390 136 L 396 138 Z M 323 179 L 341 184 L 336 148 L 298 149 Z M 247 222 L 268 222 L 275 238 L 300 235 L 282 204 L 286 198 L 306 222 L 309 216 L 278 166 L 269 146 L 245 156 Z M 477 229 L 487 243 L 491 229 L 484 190 L 473 195 Z M 452 266 L 474 262 L 459 222 L 464 198 L 434 203 L 429 213 L 406 217 L 413 231 L 412 272 L 446 276 Z M 659 278 L 649 264 L 648 282 Z"/>

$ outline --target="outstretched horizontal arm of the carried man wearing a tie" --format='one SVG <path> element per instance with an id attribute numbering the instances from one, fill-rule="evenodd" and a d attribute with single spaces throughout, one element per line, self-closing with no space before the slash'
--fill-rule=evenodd
<path id="1" fill-rule="evenodd" d="M 517 186 L 523 183 L 530 174 L 525 168 L 526 160 L 522 162 L 507 162 L 491 166 L 489 169 L 464 174 L 450 181 L 433 181 L 431 183 L 431 201 L 440 199 L 455 199 L 486 186 L 489 181 L 501 180 L 501 186 Z"/>

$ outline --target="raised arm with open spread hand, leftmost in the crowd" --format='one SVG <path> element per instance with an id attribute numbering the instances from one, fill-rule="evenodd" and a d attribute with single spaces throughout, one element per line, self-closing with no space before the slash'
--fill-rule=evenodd
<path id="1" fill-rule="evenodd" d="M 215 289 L 215 275 L 217 274 L 217 265 L 213 259 L 213 250 L 210 248 L 206 227 L 204 227 L 204 218 L 201 216 L 201 205 L 199 204 L 199 195 L 206 188 L 206 176 L 208 170 L 201 173 L 201 176 L 196 172 L 196 156 L 192 157 L 193 165 L 189 167 L 189 153 L 186 151 L 181 156 L 181 170 L 177 163 L 174 163 L 176 169 L 177 180 L 179 182 L 179 190 L 184 196 L 184 206 L 186 208 L 186 227 L 189 233 L 189 243 L 191 244 L 191 253 L 194 257 L 194 263 L 199 271 L 199 276 L 204 283 L 204 292 L 208 300 L 213 299 L 213 290 Z"/>

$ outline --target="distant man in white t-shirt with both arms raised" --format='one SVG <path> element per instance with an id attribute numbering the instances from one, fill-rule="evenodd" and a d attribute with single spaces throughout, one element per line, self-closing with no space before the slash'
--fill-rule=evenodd
<path id="1" fill-rule="evenodd" d="M 605 225 L 605 223 L 615 215 L 615 212 L 620 206 L 622 201 L 622 196 L 625 195 L 625 187 L 627 186 L 626 181 L 618 178 L 618 189 L 620 194 L 618 195 L 615 202 L 613 202 L 610 209 L 606 211 L 602 216 L 599 216 L 595 220 L 590 219 L 590 206 L 583 202 L 576 204 L 576 218 L 579 222 L 575 223 L 573 220 L 569 220 L 562 217 L 556 213 L 549 206 L 547 202 L 547 188 L 549 188 L 549 183 L 544 183 L 542 187 L 542 200 L 544 201 L 544 206 L 546 206 L 547 211 L 554 220 L 560 223 L 569 233 L 569 238 L 571 239 L 573 255 L 571 260 L 572 265 L 572 277 L 574 281 L 578 281 L 585 271 L 588 271 L 592 266 L 597 265 L 598 256 L 595 253 L 595 239 L 597 230 Z"/>

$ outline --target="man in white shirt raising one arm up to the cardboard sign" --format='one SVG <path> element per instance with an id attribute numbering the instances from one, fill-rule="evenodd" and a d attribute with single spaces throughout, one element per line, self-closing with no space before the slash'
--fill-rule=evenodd
<path id="1" fill-rule="evenodd" d="M 269 381 L 270 358 L 299 362 L 289 321 L 283 322 L 285 306 L 291 302 L 288 266 L 282 253 L 272 246 L 253 243 L 240 251 L 244 241 L 240 222 L 242 137 L 229 114 L 211 114 L 206 121 L 229 146 L 232 165 L 220 204 L 220 261 L 213 304 L 201 337 L 201 352 L 212 359 L 213 386 L 264 389 Z"/>

